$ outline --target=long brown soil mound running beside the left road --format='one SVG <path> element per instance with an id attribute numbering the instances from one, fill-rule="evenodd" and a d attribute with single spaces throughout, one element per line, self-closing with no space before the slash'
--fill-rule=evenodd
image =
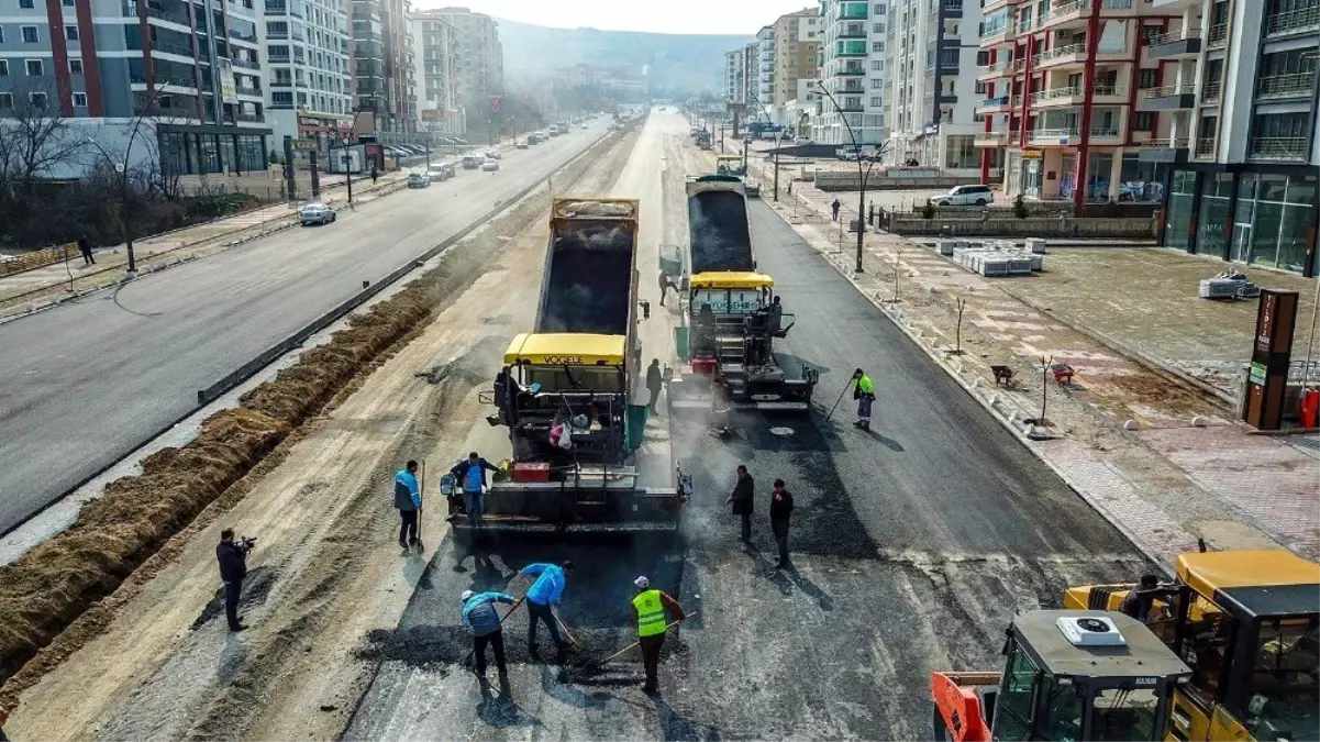
<path id="1" fill-rule="evenodd" d="M 581 174 L 589 161 L 582 158 L 569 174 Z M 108 485 L 69 529 L 0 566 L 0 683 L 119 588 L 364 368 L 429 321 L 455 290 L 488 269 L 503 247 L 492 235 L 521 230 L 546 206 L 533 198 L 459 244 L 440 267 L 350 317 L 326 345 L 309 349 L 275 380 L 243 395 L 236 409 L 209 417 L 194 441 L 149 455 L 141 475 Z"/>

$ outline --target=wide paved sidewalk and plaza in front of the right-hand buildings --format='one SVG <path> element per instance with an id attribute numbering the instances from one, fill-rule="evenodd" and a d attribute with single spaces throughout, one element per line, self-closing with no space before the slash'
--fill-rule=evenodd
<path id="1" fill-rule="evenodd" d="M 766 182 L 763 164 L 752 173 Z M 1320 557 L 1320 437 L 1249 434 L 1210 393 L 1232 387 L 1229 370 L 1250 353 L 1255 313 L 1254 302 L 1196 298 L 1195 280 L 1221 263 L 1151 248 L 1065 248 L 1045 256 L 1041 276 L 987 280 L 920 243 L 869 232 L 866 272 L 855 275 L 857 235 L 829 219 L 832 201 L 795 182 L 775 207 L 1143 552 L 1170 565 L 1201 537 L 1212 548 L 1283 545 Z M 841 222 L 855 218 L 855 205 L 841 211 Z M 1247 273 L 1267 287 L 1312 287 Z M 1299 314 L 1304 346 L 1309 304 Z M 1044 378 L 1044 362 L 1073 366 L 1074 383 Z M 1010 366 L 1016 388 L 995 387 L 991 364 Z M 1151 368 L 1160 364 L 1205 387 Z M 1035 425 L 1040 417 L 1048 425 Z"/>

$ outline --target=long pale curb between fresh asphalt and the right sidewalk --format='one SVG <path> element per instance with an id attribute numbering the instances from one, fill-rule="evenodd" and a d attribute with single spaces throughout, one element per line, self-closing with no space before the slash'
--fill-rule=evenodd
<path id="1" fill-rule="evenodd" d="M 788 219 L 784 218 L 783 213 L 780 213 L 777 209 L 774 207 L 771 207 L 771 211 L 774 211 L 785 224 L 792 227 L 792 224 L 788 223 Z M 1127 528 L 1119 519 L 1111 516 L 1100 500 L 1086 495 L 1085 491 L 1080 489 L 1077 481 L 1068 471 L 1064 471 L 1053 462 L 1038 454 L 1036 446 L 1034 444 L 1040 444 L 1044 441 L 1032 437 L 1031 429 L 1034 426 L 1030 425 L 1023 426 L 1022 422 L 1015 419 L 1015 415 L 1019 415 L 1020 411 L 1006 413 L 1005 408 L 1007 405 L 1003 404 L 1002 399 L 999 399 L 997 393 L 990 392 L 987 396 L 982 396 L 981 393 L 978 393 L 978 389 L 981 389 L 979 378 L 975 378 L 972 382 L 964 380 L 961 368 L 962 363 L 958 362 L 958 368 L 953 368 L 952 364 L 948 363 L 945 358 L 942 358 L 942 354 L 936 353 L 935 349 L 921 342 L 921 335 L 917 334 L 920 333 L 920 330 L 913 331 L 913 329 L 906 322 L 902 310 L 896 313 L 891 312 L 888 308 L 883 305 L 882 301 L 866 293 L 866 290 L 863 290 L 862 287 L 858 285 L 857 273 L 853 272 L 851 268 L 841 267 L 838 261 L 836 261 L 830 255 L 826 255 L 820 250 L 817 250 L 814 244 L 810 244 L 808 242 L 808 246 L 816 253 L 829 260 L 830 264 L 833 264 L 836 269 L 838 269 L 840 273 L 842 273 L 843 277 L 846 277 L 847 281 L 853 284 L 853 288 L 857 289 L 859 294 L 862 294 L 863 297 L 866 297 L 867 301 L 875 305 L 880 310 L 880 314 L 883 314 L 890 322 L 892 322 L 894 326 L 899 329 L 899 331 L 902 331 L 913 345 L 917 346 L 917 349 L 925 353 L 925 355 L 931 358 L 936 363 L 936 366 L 939 366 L 946 375 L 949 375 L 968 393 L 968 396 L 974 399 L 977 404 L 979 404 L 982 408 L 990 412 L 990 416 L 994 420 L 997 420 L 1003 428 L 1006 428 L 1014 436 L 1014 438 L 1016 438 L 1018 442 L 1023 445 L 1023 448 L 1031 452 L 1031 454 L 1036 458 L 1036 461 L 1039 461 L 1047 469 L 1053 471 L 1055 475 L 1059 477 L 1059 479 L 1063 481 L 1063 483 L 1067 485 L 1069 490 L 1072 490 L 1084 503 L 1086 503 L 1093 511 L 1096 511 L 1097 515 L 1104 518 L 1106 523 L 1113 525 L 1114 529 L 1118 531 L 1125 539 L 1127 539 L 1127 541 L 1152 565 L 1155 565 L 1167 577 L 1172 577 L 1172 570 L 1171 570 L 1172 568 L 1171 565 L 1166 564 L 1166 557 L 1163 555 L 1159 555 L 1150 547 L 1144 545 L 1130 528 Z M 1047 440 L 1061 440 L 1061 438 L 1063 438 L 1061 436 L 1056 436 L 1055 438 L 1047 438 Z"/>

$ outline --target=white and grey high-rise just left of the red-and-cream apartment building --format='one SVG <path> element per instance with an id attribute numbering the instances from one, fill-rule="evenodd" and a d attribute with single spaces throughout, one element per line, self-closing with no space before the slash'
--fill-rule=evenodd
<path id="1" fill-rule="evenodd" d="M 891 0 L 883 33 L 888 78 L 886 161 L 916 161 L 958 176 L 979 172 L 975 151 L 979 0 Z"/>

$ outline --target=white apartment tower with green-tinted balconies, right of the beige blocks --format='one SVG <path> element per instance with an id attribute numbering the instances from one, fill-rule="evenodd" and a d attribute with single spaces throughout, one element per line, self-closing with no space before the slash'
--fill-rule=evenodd
<path id="1" fill-rule="evenodd" d="M 928 0 L 929 1 L 929 0 Z M 886 45 L 888 1 L 821 0 L 818 144 L 879 145 L 886 141 Z M 851 132 L 851 135 L 850 135 Z"/>

